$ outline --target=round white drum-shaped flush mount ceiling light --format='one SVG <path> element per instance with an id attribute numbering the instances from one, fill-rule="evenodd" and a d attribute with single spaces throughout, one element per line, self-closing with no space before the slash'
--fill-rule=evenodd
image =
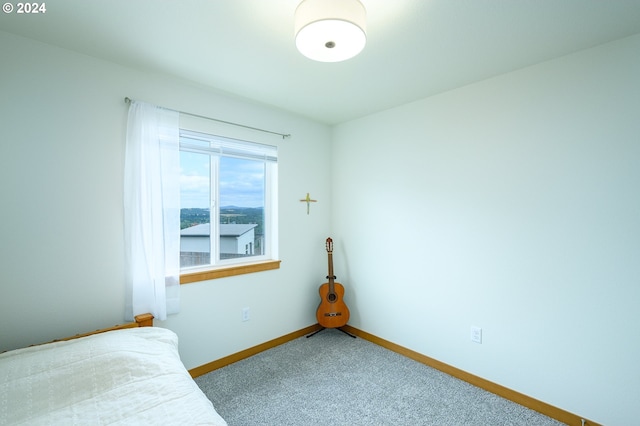
<path id="1" fill-rule="evenodd" d="M 353 58 L 367 43 L 366 18 L 359 0 L 304 0 L 295 13 L 296 47 L 314 61 Z"/>

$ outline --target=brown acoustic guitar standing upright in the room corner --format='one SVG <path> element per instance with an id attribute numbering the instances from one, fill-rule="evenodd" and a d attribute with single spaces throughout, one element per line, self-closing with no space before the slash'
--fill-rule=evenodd
<path id="1" fill-rule="evenodd" d="M 335 282 L 333 275 L 333 240 L 327 238 L 327 255 L 329 257 L 329 275 L 326 282 L 320 286 L 320 305 L 316 311 L 318 324 L 324 328 L 339 328 L 349 321 L 349 309 L 342 300 L 344 287 Z"/>

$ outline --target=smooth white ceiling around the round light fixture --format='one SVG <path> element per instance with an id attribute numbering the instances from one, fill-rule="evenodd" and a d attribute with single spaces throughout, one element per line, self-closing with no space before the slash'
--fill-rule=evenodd
<path id="1" fill-rule="evenodd" d="M 0 30 L 327 124 L 640 33 L 640 0 L 361 1 L 367 45 L 339 63 L 296 51 L 300 0 L 49 0 Z"/>

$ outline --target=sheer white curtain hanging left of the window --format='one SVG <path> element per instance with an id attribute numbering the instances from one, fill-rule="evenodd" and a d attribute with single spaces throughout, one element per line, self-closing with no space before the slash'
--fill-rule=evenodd
<path id="1" fill-rule="evenodd" d="M 179 114 L 131 101 L 124 176 L 126 314 L 180 309 Z"/>

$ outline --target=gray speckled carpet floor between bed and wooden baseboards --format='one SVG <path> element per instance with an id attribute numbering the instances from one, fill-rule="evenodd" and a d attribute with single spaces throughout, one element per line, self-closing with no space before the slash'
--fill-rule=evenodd
<path id="1" fill-rule="evenodd" d="M 562 424 L 332 329 L 195 380 L 229 426 Z"/>

